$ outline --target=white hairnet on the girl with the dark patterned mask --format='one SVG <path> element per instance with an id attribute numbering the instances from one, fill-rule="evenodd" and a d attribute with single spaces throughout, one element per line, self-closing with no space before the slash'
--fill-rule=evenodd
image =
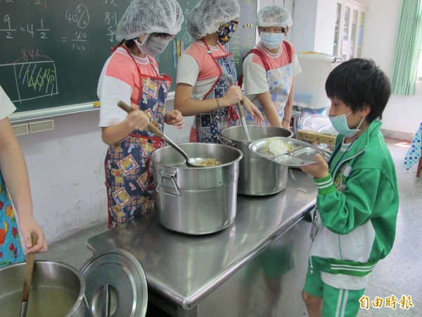
<path id="1" fill-rule="evenodd" d="M 202 39 L 240 14 L 238 0 L 201 0 L 188 15 L 188 32 L 194 39 Z"/>

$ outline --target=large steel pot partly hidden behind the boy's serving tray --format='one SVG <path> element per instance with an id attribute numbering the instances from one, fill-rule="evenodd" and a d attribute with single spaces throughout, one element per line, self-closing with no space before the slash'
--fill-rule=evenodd
<path id="1" fill-rule="evenodd" d="M 219 136 L 220 142 L 243 153 L 239 164 L 238 193 L 262 196 L 280 192 L 286 188 L 288 168 L 253 153 L 249 144 L 265 137 L 293 137 L 293 132 L 269 125 L 248 125 L 248 131 L 250 141 L 240 125 L 222 130 Z"/>

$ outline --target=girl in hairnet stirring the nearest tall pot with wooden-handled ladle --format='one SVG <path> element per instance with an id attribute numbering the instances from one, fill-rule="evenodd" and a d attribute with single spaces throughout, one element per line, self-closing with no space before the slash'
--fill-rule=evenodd
<path id="1" fill-rule="evenodd" d="M 181 128 L 183 117 L 177 110 L 165 113 L 172 79 L 159 74 L 152 56 L 165 49 L 183 20 L 175 0 L 134 0 L 117 25 L 122 42 L 98 82 L 101 137 L 110 146 L 105 161 L 109 228 L 155 209 L 149 156 L 163 144 L 147 131 L 148 123 L 160 130 L 164 123 Z M 118 101 L 132 104 L 132 112 L 119 108 Z"/>

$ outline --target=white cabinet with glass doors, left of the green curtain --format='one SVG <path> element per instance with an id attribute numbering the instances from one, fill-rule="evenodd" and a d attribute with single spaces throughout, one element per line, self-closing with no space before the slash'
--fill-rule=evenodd
<path id="1" fill-rule="evenodd" d="M 354 1 L 337 1 L 333 56 L 342 56 L 343 61 L 361 57 L 366 10 Z"/>

